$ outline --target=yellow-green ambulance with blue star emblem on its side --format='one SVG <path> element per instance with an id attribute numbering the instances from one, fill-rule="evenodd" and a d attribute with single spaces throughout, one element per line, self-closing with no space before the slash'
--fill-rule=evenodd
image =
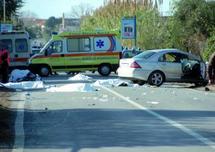
<path id="1" fill-rule="evenodd" d="M 98 71 L 108 76 L 117 70 L 121 52 L 116 34 L 64 32 L 52 36 L 40 53 L 30 58 L 29 68 L 41 76 L 61 71 Z"/>

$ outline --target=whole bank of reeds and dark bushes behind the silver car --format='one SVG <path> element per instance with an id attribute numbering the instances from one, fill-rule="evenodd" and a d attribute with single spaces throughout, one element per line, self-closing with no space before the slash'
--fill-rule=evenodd
<path id="1" fill-rule="evenodd" d="M 170 16 L 160 14 L 159 3 L 162 1 L 108 1 L 82 19 L 81 29 L 117 31 L 120 37 L 121 19 L 136 16 L 138 47 L 178 48 L 208 59 L 215 51 L 215 2 L 180 0 L 174 3 Z M 129 40 L 122 43 L 132 46 Z"/>

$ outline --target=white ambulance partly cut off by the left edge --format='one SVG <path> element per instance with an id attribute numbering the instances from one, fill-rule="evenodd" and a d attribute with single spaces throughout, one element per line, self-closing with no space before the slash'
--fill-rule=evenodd
<path id="1" fill-rule="evenodd" d="M 10 68 L 27 68 L 32 55 L 30 36 L 26 31 L 0 32 L 0 41 L 10 54 Z"/>

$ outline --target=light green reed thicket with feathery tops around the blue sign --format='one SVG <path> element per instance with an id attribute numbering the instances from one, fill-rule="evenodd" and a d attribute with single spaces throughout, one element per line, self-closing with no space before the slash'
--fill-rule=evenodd
<path id="1" fill-rule="evenodd" d="M 159 4 L 162 1 L 157 1 Z M 158 3 L 157 3 L 158 4 Z M 163 42 L 163 19 L 160 18 L 158 8 L 153 0 L 111 0 L 103 7 L 98 8 L 84 18 L 82 30 L 103 29 L 118 32 L 120 37 L 121 19 L 124 16 L 137 17 L 137 44 L 138 47 L 150 49 L 159 47 Z M 162 23 L 160 23 L 162 22 Z M 132 46 L 130 40 L 122 40 L 126 46 Z"/>

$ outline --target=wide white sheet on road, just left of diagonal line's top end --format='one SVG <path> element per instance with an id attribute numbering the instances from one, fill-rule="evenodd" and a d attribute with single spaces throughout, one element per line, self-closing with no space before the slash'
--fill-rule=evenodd
<path id="1" fill-rule="evenodd" d="M 67 84 L 60 87 L 51 87 L 46 90 L 47 92 L 93 92 L 96 89 L 92 84 L 88 83 L 74 83 Z"/>

